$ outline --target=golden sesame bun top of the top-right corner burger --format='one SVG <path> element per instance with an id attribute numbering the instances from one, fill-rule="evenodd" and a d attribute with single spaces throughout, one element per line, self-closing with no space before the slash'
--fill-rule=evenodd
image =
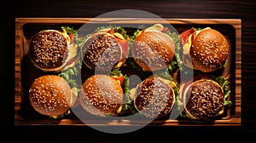
<path id="1" fill-rule="evenodd" d="M 202 72 L 213 72 L 224 66 L 230 53 L 227 39 L 219 31 L 200 31 L 191 43 L 189 54 L 193 66 Z"/>

